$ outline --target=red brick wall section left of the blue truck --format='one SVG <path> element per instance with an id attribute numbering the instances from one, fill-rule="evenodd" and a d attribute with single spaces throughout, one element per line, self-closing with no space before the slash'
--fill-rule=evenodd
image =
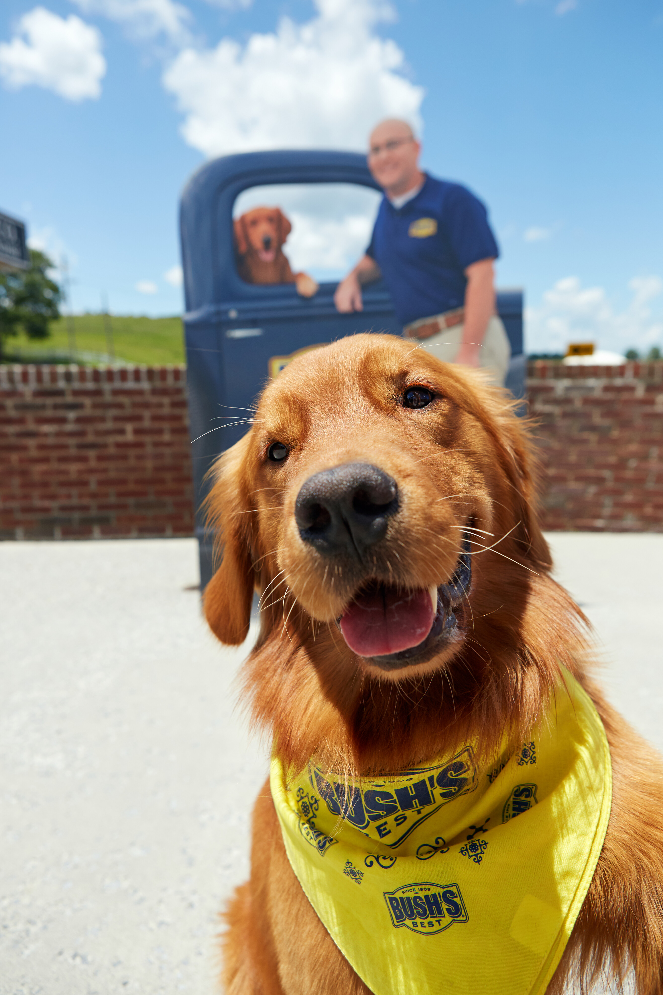
<path id="1" fill-rule="evenodd" d="M 192 530 L 184 367 L 0 366 L 0 537 Z"/>

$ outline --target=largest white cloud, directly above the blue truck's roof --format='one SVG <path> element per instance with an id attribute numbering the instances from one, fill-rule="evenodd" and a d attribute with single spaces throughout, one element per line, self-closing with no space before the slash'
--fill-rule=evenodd
<path id="1" fill-rule="evenodd" d="M 423 90 L 404 75 L 405 57 L 375 31 L 392 17 L 381 0 L 314 0 L 316 15 L 283 18 L 246 45 L 187 48 L 163 83 L 184 113 L 185 140 L 206 155 L 260 148 L 366 148 L 381 117 L 420 127 Z"/>

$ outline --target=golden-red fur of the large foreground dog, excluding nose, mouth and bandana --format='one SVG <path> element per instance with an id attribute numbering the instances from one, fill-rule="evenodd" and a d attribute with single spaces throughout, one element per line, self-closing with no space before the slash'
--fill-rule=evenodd
<path id="1" fill-rule="evenodd" d="M 402 403 L 414 384 L 434 392 L 420 410 Z M 274 442 L 289 450 L 282 463 L 266 457 Z M 400 509 L 368 565 L 334 568 L 301 540 L 294 502 L 313 474 L 357 462 L 398 482 Z M 586 620 L 551 577 L 537 520 L 531 436 L 505 393 L 402 339 L 352 336 L 296 359 L 265 388 L 217 475 L 209 508 L 224 558 L 206 615 L 222 642 L 239 644 L 253 589 L 261 592 L 246 700 L 290 768 L 315 757 L 351 775 L 404 770 L 467 738 L 489 759 L 505 728 L 522 740 L 543 718 L 560 668 L 574 674 L 605 727 L 613 801 L 549 991 L 572 977 L 618 987 L 629 968 L 640 995 L 663 991 L 663 767 L 590 677 Z M 366 580 L 411 589 L 448 581 L 468 527 L 472 586 L 456 613 L 457 641 L 389 672 L 352 653 L 335 620 Z M 250 879 L 227 921 L 229 995 L 368 992 L 294 877 L 268 783 L 253 812 Z"/>

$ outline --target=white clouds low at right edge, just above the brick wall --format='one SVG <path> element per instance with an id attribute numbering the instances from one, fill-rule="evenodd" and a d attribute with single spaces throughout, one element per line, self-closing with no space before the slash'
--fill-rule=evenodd
<path id="1" fill-rule="evenodd" d="M 634 277 L 631 300 L 616 310 L 602 287 L 583 288 L 578 277 L 558 280 L 540 307 L 526 309 L 528 352 L 565 352 L 569 342 L 594 342 L 601 349 L 623 351 L 663 343 L 663 317 L 652 314 L 651 301 L 663 291 L 660 277 Z"/>

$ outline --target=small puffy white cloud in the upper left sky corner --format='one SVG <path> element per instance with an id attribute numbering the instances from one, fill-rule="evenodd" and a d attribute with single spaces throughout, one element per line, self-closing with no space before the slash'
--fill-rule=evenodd
<path id="1" fill-rule="evenodd" d="M 67 100 L 95 99 L 106 71 L 101 35 L 80 17 L 45 7 L 24 14 L 11 42 L 0 44 L 0 76 L 13 90 L 31 84 Z"/>

